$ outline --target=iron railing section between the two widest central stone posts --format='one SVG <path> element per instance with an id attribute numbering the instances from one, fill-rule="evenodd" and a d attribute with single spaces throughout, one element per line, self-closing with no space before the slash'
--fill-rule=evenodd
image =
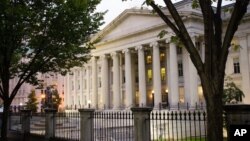
<path id="1" fill-rule="evenodd" d="M 94 113 L 94 140 L 130 141 L 134 138 L 131 111 L 97 111 Z"/>

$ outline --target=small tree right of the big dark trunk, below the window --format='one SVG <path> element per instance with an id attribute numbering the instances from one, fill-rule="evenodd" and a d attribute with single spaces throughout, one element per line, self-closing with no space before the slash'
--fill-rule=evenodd
<path id="1" fill-rule="evenodd" d="M 241 102 L 244 96 L 244 93 L 232 82 L 232 78 L 227 77 L 222 96 L 223 104 Z"/>

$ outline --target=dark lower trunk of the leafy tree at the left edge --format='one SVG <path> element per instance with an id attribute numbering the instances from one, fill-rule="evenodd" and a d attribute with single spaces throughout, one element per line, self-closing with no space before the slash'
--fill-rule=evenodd
<path id="1" fill-rule="evenodd" d="M 8 133 L 8 121 L 9 121 L 9 108 L 10 108 L 10 102 L 5 100 L 4 101 L 3 117 L 2 117 L 2 129 L 1 129 L 1 140 L 2 141 L 8 141 L 7 133 Z"/>

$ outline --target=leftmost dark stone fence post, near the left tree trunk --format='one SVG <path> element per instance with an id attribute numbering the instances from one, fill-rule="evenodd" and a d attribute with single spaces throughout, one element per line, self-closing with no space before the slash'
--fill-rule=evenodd
<path id="1" fill-rule="evenodd" d="M 21 110 L 23 140 L 29 140 L 31 110 Z"/>

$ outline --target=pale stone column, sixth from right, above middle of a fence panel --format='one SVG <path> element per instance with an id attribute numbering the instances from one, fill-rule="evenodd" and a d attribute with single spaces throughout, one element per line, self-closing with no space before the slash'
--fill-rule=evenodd
<path id="1" fill-rule="evenodd" d="M 113 58 L 113 109 L 119 109 L 121 103 L 119 54 L 114 52 L 111 55 Z"/>

